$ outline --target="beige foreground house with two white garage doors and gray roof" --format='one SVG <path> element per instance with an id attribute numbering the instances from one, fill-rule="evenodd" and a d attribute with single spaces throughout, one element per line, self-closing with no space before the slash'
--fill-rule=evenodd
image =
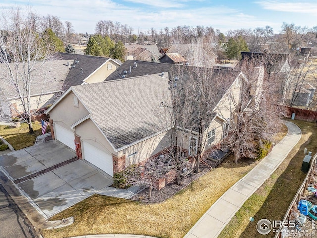
<path id="1" fill-rule="evenodd" d="M 160 154 L 171 146 L 170 140 L 175 131 L 179 133 L 178 129 L 191 131 L 184 137 L 182 147 L 189 155 L 197 151 L 195 126 L 191 130 L 187 124 L 172 128 L 169 119 L 161 118 L 166 113 L 162 105 L 171 105 L 171 87 L 176 80 L 172 65 L 134 62 L 122 64 L 103 83 L 69 88 L 46 111 L 53 138 L 110 176 L 125 166 Z M 131 73 L 124 72 L 130 66 Z M 215 92 L 212 113 L 206 121 L 206 151 L 227 135 L 227 124 L 234 119 L 235 110 L 230 100 L 239 100 L 240 81 L 247 80 L 237 70 L 214 69 L 212 75 L 228 76 L 229 83 Z"/>

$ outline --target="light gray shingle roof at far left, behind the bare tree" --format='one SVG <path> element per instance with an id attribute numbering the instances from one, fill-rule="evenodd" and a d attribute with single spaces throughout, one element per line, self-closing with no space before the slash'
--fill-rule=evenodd
<path id="1" fill-rule="evenodd" d="M 62 90 L 64 81 L 69 72 L 67 60 L 47 61 L 43 65 L 42 62 L 37 62 L 34 71 L 31 72 L 31 95 L 45 94 Z M 14 67 L 13 63 L 10 63 Z M 18 93 L 12 85 L 12 80 L 8 75 L 7 65 L 0 63 L 0 91 L 8 99 L 17 98 Z M 37 70 L 35 70 L 37 69 Z M 19 73 L 24 72 L 22 65 L 19 65 Z M 23 88 L 22 81 L 18 81 L 19 88 Z M 26 91 L 21 91 L 22 95 L 26 95 Z"/>

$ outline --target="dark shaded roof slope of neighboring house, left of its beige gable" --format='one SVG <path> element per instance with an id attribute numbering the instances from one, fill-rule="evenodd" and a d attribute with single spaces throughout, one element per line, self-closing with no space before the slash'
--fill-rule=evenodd
<path id="1" fill-rule="evenodd" d="M 56 54 L 56 58 L 61 60 L 69 60 L 71 66 L 76 65 L 76 67 L 70 69 L 66 78 L 65 85 L 68 87 L 81 85 L 84 79 L 86 79 L 97 68 L 110 59 L 108 57 L 88 56 L 63 52 Z M 76 61 L 78 61 L 78 63 L 76 63 Z M 83 69 L 83 73 L 81 73 L 81 69 Z"/>

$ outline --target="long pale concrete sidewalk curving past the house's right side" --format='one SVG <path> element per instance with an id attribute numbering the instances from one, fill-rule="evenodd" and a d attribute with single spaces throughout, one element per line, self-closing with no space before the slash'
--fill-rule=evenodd
<path id="1" fill-rule="evenodd" d="M 286 122 L 288 133 L 247 175 L 226 191 L 184 238 L 216 238 L 244 202 L 268 179 L 301 138 L 300 128 Z"/>

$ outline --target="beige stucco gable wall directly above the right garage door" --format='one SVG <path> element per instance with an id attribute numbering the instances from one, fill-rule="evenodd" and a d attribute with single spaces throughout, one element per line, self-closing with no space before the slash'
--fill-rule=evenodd
<path id="1" fill-rule="evenodd" d="M 117 155 L 117 153 L 114 152 L 113 147 L 91 119 L 87 119 L 80 123 L 74 130 L 76 135 L 80 136 L 81 141 L 85 141 L 110 155 Z"/>

